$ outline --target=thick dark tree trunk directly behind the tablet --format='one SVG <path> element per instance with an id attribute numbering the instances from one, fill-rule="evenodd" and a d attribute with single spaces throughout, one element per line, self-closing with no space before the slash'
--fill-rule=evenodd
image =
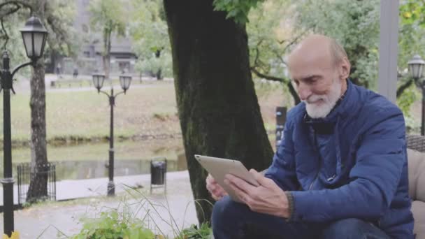
<path id="1" fill-rule="evenodd" d="M 263 170 L 273 150 L 252 82 L 245 26 L 212 10 L 212 0 L 164 0 L 180 126 L 194 198 L 212 198 L 194 154 L 238 159 Z M 199 222 L 212 207 L 199 201 Z"/>

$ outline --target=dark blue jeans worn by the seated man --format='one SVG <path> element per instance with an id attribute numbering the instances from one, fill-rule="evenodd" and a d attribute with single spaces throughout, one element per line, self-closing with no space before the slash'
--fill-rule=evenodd
<path id="1" fill-rule="evenodd" d="M 252 212 L 247 205 L 225 196 L 212 210 L 215 239 L 236 238 L 324 238 L 387 239 L 383 231 L 361 219 L 342 219 L 329 224 L 288 223 L 285 219 Z M 253 236 L 252 231 L 258 233 Z M 262 235 L 262 236 L 261 236 Z"/>

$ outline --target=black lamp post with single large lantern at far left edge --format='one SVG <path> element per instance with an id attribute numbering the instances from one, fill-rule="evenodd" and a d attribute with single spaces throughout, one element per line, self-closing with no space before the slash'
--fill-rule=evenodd
<path id="1" fill-rule="evenodd" d="M 16 66 L 10 73 L 9 55 L 5 50 L 3 52 L 3 69 L 1 69 L 1 89 L 3 89 L 3 179 L 0 180 L 3 184 L 3 225 L 4 233 L 11 236 L 13 229 L 13 180 L 12 175 L 12 139 L 10 132 L 10 90 L 13 93 L 12 79 L 13 75 L 22 67 L 34 66 L 37 60 L 43 56 L 45 39 L 48 31 L 45 30 L 43 24 L 37 17 L 30 17 L 21 30 L 24 40 L 27 57 L 31 61 Z"/>

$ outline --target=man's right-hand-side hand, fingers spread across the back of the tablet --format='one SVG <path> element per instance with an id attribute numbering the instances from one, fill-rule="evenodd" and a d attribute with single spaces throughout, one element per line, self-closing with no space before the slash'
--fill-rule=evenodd
<path id="1" fill-rule="evenodd" d="M 289 203 L 287 195 L 270 178 L 264 177 L 254 169 L 250 170 L 260 186 L 255 187 L 233 175 L 226 175 L 224 182 L 236 192 L 240 201 L 243 201 L 254 212 L 266 213 L 278 217 L 289 217 Z"/>

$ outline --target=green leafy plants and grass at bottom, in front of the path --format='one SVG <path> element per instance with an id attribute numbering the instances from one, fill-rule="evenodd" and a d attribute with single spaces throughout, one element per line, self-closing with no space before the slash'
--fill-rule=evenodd
<path id="1" fill-rule="evenodd" d="M 128 186 L 124 185 L 124 187 Z M 179 228 L 171 215 L 168 201 L 165 205 L 159 201 L 153 201 L 145 196 L 145 192 L 131 187 L 128 187 L 126 191 L 127 194 L 122 197 L 118 208 L 108 208 L 100 212 L 99 217 L 82 217 L 80 219 L 82 230 L 71 239 L 165 238 L 166 234 L 159 228 L 159 222 L 166 222 L 171 227 L 173 237 L 178 239 L 203 239 L 210 238 L 212 235 L 208 224 L 201 224 L 199 228 L 194 224 L 186 229 Z M 129 201 L 128 196 L 136 201 Z M 194 201 L 194 203 L 198 202 Z M 95 205 L 95 210 L 98 206 L 101 205 Z M 169 215 L 170 218 L 166 219 L 164 215 Z M 184 217 L 185 215 L 183 219 Z M 159 233 L 154 233 L 151 228 L 159 231 Z"/>

